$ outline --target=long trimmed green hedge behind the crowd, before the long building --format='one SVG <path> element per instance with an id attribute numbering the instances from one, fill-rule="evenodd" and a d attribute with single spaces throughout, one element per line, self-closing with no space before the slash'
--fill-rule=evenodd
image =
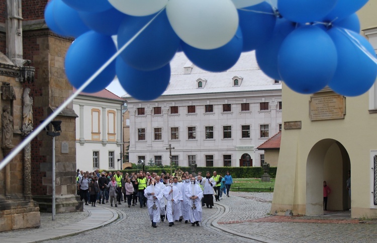
<path id="1" fill-rule="evenodd" d="M 140 170 L 142 170 L 142 168 L 142 166 L 135 165 L 133 166 L 133 169 L 123 170 L 122 172 L 123 174 L 125 174 L 126 172 L 128 174 L 131 174 L 132 172 L 139 172 Z M 190 167 L 173 167 L 173 173 L 177 168 L 179 168 L 183 172 L 188 171 L 189 173 L 191 173 Z M 160 175 L 162 171 L 170 173 L 170 166 L 145 166 L 144 170 L 149 173 L 156 172 L 157 175 Z M 269 168 L 268 174 L 271 176 L 271 178 L 276 177 L 276 170 L 277 167 Z M 214 171 L 216 171 L 217 174 L 222 174 L 223 176 L 225 176 L 226 172 L 229 171 L 230 175 L 233 178 L 261 178 L 261 176 L 264 174 L 262 167 L 198 167 L 196 170 L 197 173 L 202 172 L 202 176 L 205 176 L 207 171 L 211 173 L 211 176 Z"/>

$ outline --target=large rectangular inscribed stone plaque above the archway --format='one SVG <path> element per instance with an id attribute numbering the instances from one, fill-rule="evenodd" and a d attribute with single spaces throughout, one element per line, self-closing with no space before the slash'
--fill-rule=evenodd
<path id="1" fill-rule="evenodd" d="M 345 97 L 340 95 L 311 97 L 310 120 L 344 119 Z"/>

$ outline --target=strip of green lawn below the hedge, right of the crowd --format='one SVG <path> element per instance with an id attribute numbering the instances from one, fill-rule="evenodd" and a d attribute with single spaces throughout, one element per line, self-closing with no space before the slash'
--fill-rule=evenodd
<path id="1" fill-rule="evenodd" d="M 271 179 L 271 182 L 262 182 L 257 178 L 235 178 L 231 186 L 233 192 L 273 192 L 275 179 Z M 240 188 L 238 190 L 238 187 Z M 248 188 L 248 189 L 247 189 Z M 271 188 L 271 191 L 269 190 Z"/>

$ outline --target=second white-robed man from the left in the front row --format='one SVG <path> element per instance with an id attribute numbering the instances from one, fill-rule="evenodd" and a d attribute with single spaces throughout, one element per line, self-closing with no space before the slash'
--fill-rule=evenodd
<path id="1" fill-rule="evenodd" d="M 173 180 L 169 180 L 169 184 L 165 187 L 163 194 L 166 198 L 166 218 L 169 221 L 169 227 L 174 225 L 174 220 L 179 219 L 179 202 L 180 191 L 173 186 Z"/>

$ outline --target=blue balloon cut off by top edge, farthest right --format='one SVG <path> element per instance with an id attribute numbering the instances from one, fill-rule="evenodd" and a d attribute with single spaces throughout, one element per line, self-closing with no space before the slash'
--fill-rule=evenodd
<path id="1" fill-rule="evenodd" d="M 335 8 L 325 17 L 327 21 L 342 20 L 356 13 L 368 0 L 338 0 Z"/>

